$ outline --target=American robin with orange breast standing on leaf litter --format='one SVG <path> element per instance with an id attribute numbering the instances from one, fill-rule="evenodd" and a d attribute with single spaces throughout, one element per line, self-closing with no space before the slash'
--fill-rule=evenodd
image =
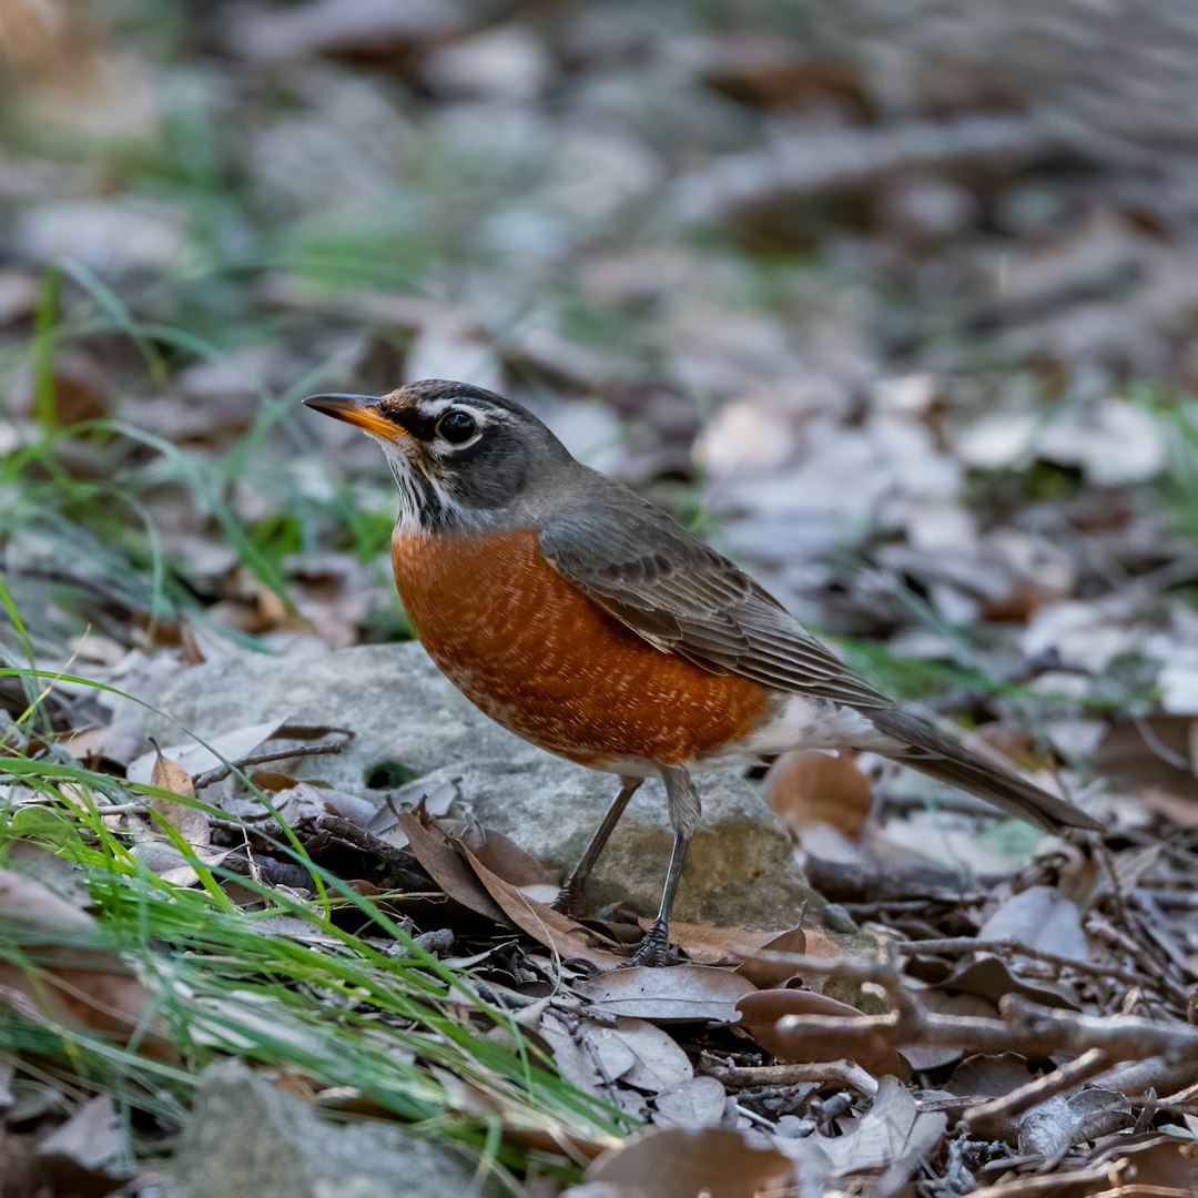
<path id="1" fill-rule="evenodd" d="M 304 403 L 387 455 L 400 494 L 395 582 L 432 660 L 518 736 L 619 776 L 559 902 L 577 900 L 641 782 L 665 783 L 673 849 L 634 962 L 668 955 L 701 762 L 870 750 L 1046 830 L 1101 827 L 900 710 L 749 575 L 576 461 L 520 404 L 443 380 Z"/>

